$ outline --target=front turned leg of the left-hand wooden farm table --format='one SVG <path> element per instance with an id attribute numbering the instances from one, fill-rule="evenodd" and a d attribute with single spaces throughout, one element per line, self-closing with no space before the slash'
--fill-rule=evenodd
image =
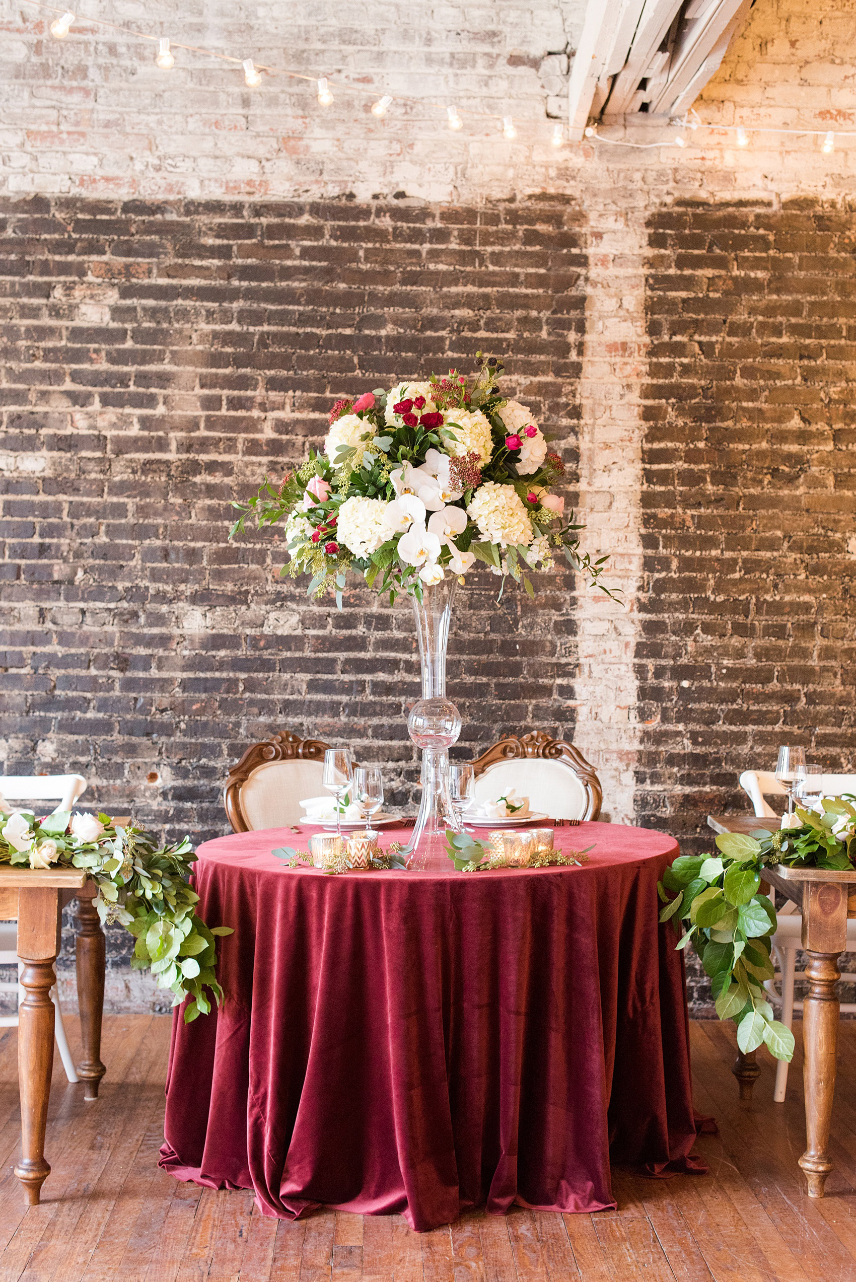
<path id="1" fill-rule="evenodd" d="M 24 1000 L 18 1008 L 18 1085 L 21 1090 L 22 1158 L 15 1176 L 31 1206 L 38 1205 L 50 1174 L 45 1161 L 45 1126 L 54 1067 L 54 962 L 59 951 L 59 892 L 22 890 L 18 910 L 18 956 Z"/>

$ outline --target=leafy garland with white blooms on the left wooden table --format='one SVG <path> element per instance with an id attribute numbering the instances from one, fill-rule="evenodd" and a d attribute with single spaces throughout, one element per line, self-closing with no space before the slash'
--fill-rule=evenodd
<path id="1" fill-rule="evenodd" d="M 97 882 L 95 906 L 103 924 L 119 922 L 135 936 L 132 968 L 150 969 L 160 988 L 172 990 L 173 1006 L 188 999 L 186 1023 L 209 1014 L 205 990 L 219 1005 L 214 936 L 232 935 L 228 926 L 209 929 L 196 915 L 199 895 L 188 885 L 195 860 L 190 837 L 159 846 L 151 833 L 117 828 L 106 814 L 0 814 L 0 865 L 88 873 Z"/>

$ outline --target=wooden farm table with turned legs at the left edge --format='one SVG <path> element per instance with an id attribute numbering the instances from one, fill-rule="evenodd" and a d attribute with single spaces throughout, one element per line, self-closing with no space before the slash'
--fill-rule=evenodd
<path id="1" fill-rule="evenodd" d="M 45 1161 L 45 1123 L 54 1067 L 54 962 L 59 953 L 63 908 L 77 897 L 77 995 L 83 1060 L 77 1076 L 83 1096 L 96 1100 L 105 1068 L 101 1053 L 105 941 L 92 900 L 97 886 L 77 868 L 0 868 L 0 918 L 18 919 L 18 959 L 24 1000 L 18 1009 L 18 1085 L 21 1161 L 15 1174 L 31 1206 L 50 1174 Z"/>

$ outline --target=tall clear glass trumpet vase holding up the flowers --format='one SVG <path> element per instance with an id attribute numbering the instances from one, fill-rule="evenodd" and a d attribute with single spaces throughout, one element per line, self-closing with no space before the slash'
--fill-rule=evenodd
<path id="1" fill-rule="evenodd" d="M 447 574 L 440 583 L 425 583 L 422 601 L 413 600 L 416 640 L 422 663 L 422 699 L 407 717 L 407 733 L 422 749 L 422 801 L 405 847 L 409 868 L 418 872 L 449 868 L 446 829 L 460 832 L 449 776 L 449 749 L 461 732 L 460 713 L 446 699 L 446 646 L 457 579 Z"/>

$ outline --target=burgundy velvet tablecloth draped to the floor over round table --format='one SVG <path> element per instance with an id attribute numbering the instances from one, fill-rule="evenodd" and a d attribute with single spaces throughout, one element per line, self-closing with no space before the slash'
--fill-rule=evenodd
<path id="1" fill-rule="evenodd" d="M 409 833 L 388 832 L 405 841 Z M 663 833 L 557 828 L 582 868 L 290 869 L 282 829 L 205 842 L 220 1010 L 176 1013 L 160 1164 L 293 1217 L 614 1206 L 610 1155 L 693 1169 L 683 954 Z M 702 1168 L 704 1169 L 704 1168 Z"/>

